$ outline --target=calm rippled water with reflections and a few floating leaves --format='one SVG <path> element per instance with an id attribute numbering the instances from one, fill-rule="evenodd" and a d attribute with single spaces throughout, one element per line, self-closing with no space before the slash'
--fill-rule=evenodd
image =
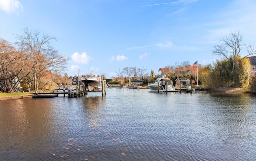
<path id="1" fill-rule="evenodd" d="M 0 101 L 0 160 L 255 160 L 256 96 L 155 93 Z"/>

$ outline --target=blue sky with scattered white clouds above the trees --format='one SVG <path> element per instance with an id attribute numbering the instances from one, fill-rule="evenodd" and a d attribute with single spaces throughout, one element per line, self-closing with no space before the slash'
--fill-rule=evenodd
<path id="1" fill-rule="evenodd" d="M 256 0 L 0 0 L 0 37 L 15 42 L 25 28 L 56 37 L 68 76 L 110 79 L 125 67 L 150 75 L 222 59 L 214 45 L 234 31 L 256 47 Z"/>

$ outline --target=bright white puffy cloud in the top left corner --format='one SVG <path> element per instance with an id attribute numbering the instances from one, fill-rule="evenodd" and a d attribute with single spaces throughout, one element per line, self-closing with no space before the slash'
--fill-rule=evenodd
<path id="1" fill-rule="evenodd" d="M 0 0 L 0 9 L 4 12 L 11 13 L 23 10 L 23 6 L 18 0 Z"/>

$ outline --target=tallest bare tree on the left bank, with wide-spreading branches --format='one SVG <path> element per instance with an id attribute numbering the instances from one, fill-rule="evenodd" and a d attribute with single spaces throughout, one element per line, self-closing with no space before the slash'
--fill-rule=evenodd
<path id="1" fill-rule="evenodd" d="M 59 55 L 51 45 L 50 40 L 54 37 L 48 34 L 41 34 L 40 31 L 29 31 L 28 28 L 22 30 L 23 35 L 16 35 L 18 42 L 16 43 L 23 53 L 28 55 L 32 64 L 32 76 L 34 89 L 38 90 L 40 79 L 44 71 L 62 73 L 67 67 L 68 58 Z M 30 82 L 31 84 L 31 82 Z"/>

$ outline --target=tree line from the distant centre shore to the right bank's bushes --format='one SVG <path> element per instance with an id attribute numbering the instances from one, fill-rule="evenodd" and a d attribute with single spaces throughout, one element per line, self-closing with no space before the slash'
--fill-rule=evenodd
<path id="1" fill-rule="evenodd" d="M 241 56 L 242 52 L 244 52 L 244 57 Z M 198 81 L 202 87 L 209 90 L 218 87 L 234 87 L 250 89 L 256 93 L 256 76 L 255 73 L 250 73 L 251 64 L 250 59 L 248 59 L 248 56 L 256 54 L 256 49 L 250 43 L 246 45 L 243 42 L 243 36 L 239 32 L 229 33 L 227 37 L 220 41 L 220 45 L 214 46 L 212 54 L 222 56 L 223 58 L 216 59 L 213 65 L 202 66 L 197 64 L 197 69 L 191 68 L 189 61 L 183 61 L 181 64 L 175 63 L 174 65 L 160 68 L 159 71 L 164 72 L 166 77 L 172 80 L 187 78 L 193 82 Z M 186 72 L 189 70 L 192 73 Z M 196 80 L 196 70 L 198 70 L 198 80 Z M 118 74 L 117 80 L 124 84 L 124 77 L 127 76 L 129 80 L 132 74 L 134 77 L 142 77 L 145 71 L 146 69 L 144 68 L 125 67 L 116 72 Z M 147 77 L 148 75 L 144 76 Z M 151 70 L 150 77 L 151 82 L 154 82 L 158 76 L 155 74 L 155 71 Z"/>

